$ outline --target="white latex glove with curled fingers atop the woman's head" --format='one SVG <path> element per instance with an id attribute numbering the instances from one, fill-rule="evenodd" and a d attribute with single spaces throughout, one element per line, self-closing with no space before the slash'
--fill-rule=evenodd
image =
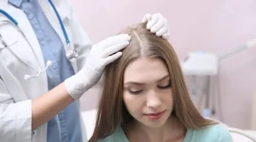
<path id="1" fill-rule="evenodd" d="M 157 37 L 163 37 L 166 40 L 170 37 L 168 21 L 162 14 L 146 14 L 143 17 L 143 23 L 147 23 L 147 29 L 155 33 Z"/>

